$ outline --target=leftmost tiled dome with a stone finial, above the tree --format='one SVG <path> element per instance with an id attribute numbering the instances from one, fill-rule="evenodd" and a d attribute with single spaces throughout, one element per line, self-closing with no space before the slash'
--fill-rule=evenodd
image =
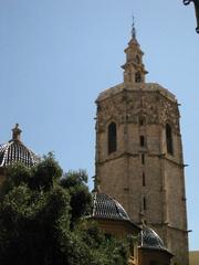
<path id="1" fill-rule="evenodd" d="M 31 167 L 39 161 L 39 157 L 21 142 L 20 134 L 21 130 L 17 124 L 12 129 L 12 139 L 0 145 L 0 167 L 8 167 L 14 162 L 22 162 L 27 167 Z"/>

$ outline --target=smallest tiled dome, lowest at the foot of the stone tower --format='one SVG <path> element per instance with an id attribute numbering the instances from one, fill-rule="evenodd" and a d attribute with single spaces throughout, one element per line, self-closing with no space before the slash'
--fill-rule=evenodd
<path id="1" fill-rule="evenodd" d="M 159 235 L 148 226 L 144 226 L 139 233 L 139 246 L 154 250 L 166 250 Z"/>

